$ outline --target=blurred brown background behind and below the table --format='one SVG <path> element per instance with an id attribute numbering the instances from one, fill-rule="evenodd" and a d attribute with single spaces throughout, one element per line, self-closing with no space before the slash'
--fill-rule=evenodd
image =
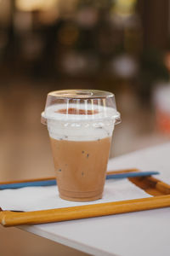
<path id="1" fill-rule="evenodd" d="M 0 181 L 54 176 L 50 90 L 116 95 L 111 157 L 170 139 L 170 1 L 0 0 Z M 135 167 L 135 166 L 134 166 Z M 87 255 L 0 227 L 2 255 Z"/>

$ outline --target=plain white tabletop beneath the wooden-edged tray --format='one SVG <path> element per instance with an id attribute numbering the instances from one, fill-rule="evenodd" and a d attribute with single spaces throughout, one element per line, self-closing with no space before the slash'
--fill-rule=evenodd
<path id="1" fill-rule="evenodd" d="M 131 167 L 170 183 L 170 143 L 111 159 L 108 170 Z M 21 229 L 93 255 L 170 255 L 170 207 Z"/>

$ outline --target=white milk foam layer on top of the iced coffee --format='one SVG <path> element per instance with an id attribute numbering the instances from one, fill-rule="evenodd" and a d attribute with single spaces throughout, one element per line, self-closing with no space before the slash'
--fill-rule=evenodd
<path id="1" fill-rule="evenodd" d="M 91 105 L 81 104 L 82 110 L 92 110 Z M 94 105 L 94 114 L 56 113 L 65 109 L 66 104 L 52 105 L 46 108 L 42 117 L 47 119 L 49 136 L 57 140 L 94 141 L 111 137 L 115 119 L 119 116 L 115 108 Z M 69 104 L 69 108 L 77 108 L 77 104 Z"/>

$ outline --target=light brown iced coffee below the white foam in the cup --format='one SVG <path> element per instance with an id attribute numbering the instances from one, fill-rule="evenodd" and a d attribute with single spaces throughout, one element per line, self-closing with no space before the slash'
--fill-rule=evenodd
<path id="1" fill-rule="evenodd" d="M 50 137 L 59 196 L 69 201 L 102 197 L 111 137 L 96 141 L 56 140 Z"/>

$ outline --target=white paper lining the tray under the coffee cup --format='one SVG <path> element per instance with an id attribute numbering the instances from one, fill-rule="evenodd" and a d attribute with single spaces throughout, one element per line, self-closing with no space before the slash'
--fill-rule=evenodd
<path id="1" fill-rule="evenodd" d="M 56 186 L 4 189 L 0 191 L 0 207 L 3 210 L 37 211 L 61 207 L 75 207 L 111 201 L 124 201 L 150 197 L 126 178 L 106 180 L 103 198 L 97 201 L 74 202 L 59 198 Z"/>

